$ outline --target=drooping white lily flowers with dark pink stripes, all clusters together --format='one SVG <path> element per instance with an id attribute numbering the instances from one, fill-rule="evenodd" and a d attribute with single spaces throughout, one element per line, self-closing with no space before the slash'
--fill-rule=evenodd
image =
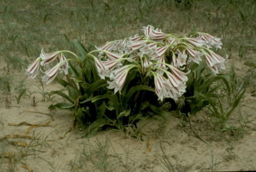
<path id="1" fill-rule="evenodd" d="M 87 57 L 94 59 L 100 78 L 108 80 L 108 89 L 114 89 L 114 93 L 121 93 L 129 72 L 137 70 L 142 80 L 146 77 L 154 79 L 154 88 L 160 100 L 178 100 L 186 90 L 190 63 L 199 64 L 201 60 L 206 60 L 207 66 L 215 74 L 225 69 L 226 59 L 211 50 L 222 48 L 221 38 L 200 32 L 179 37 L 163 33 L 151 25 L 143 27 L 142 31 L 141 35 L 107 42 L 87 54 Z M 42 80 L 47 84 L 60 71 L 67 75 L 68 61 L 78 61 L 79 58 L 72 53 L 77 59 L 66 59 L 65 52 L 72 53 L 56 51 L 47 54 L 42 50 L 26 74 L 34 78 L 43 67 L 47 70 L 43 72 Z M 53 62 L 56 62 L 55 66 L 50 67 Z"/>

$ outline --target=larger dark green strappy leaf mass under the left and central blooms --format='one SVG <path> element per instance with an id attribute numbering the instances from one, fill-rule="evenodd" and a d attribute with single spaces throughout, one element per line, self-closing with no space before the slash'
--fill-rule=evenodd
<path id="1" fill-rule="evenodd" d="M 153 113 L 167 116 L 160 109 L 154 89 L 147 86 L 153 79 L 143 79 L 137 69 L 131 70 L 121 93 L 114 94 L 106 88 L 106 80 L 101 80 L 97 74 L 94 60 L 86 56 L 87 50 L 75 42 L 80 52 L 80 63 L 71 64 L 67 81 L 56 79 L 66 92 L 53 91 L 50 95 L 62 96 L 67 102 L 59 102 L 49 106 L 49 109 L 69 109 L 74 112 L 74 125 L 86 129 L 92 136 L 100 128 L 112 127 L 123 130 L 125 127 L 136 128 L 136 123 L 143 116 Z"/>

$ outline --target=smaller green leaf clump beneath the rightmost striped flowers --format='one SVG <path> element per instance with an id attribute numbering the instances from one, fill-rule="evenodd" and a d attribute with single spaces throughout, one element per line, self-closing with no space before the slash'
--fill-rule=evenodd
<path id="1" fill-rule="evenodd" d="M 187 92 L 184 93 L 185 105 L 181 108 L 182 113 L 191 113 L 195 115 L 202 108 L 209 105 L 207 98 L 218 98 L 214 91 L 220 89 L 224 84 L 228 96 L 230 95 L 230 88 L 228 84 L 228 76 L 217 74 L 213 76 L 211 73 L 204 73 L 206 66 L 203 63 L 194 64 L 191 67 L 192 72 L 188 74 Z M 203 95 L 203 96 L 202 96 Z"/>

